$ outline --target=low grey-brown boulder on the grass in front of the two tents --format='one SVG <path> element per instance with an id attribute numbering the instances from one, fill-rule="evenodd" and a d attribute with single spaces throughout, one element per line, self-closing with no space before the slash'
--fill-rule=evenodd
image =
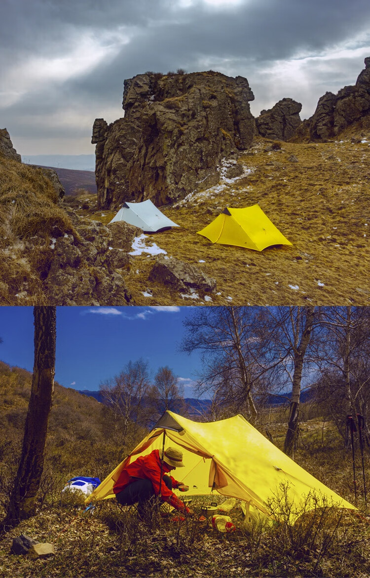
<path id="1" fill-rule="evenodd" d="M 164 255 L 158 255 L 148 279 L 169 285 L 178 291 L 188 288 L 203 292 L 216 290 L 216 280 L 208 277 L 197 266 L 175 257 L 165 258 Z"/>

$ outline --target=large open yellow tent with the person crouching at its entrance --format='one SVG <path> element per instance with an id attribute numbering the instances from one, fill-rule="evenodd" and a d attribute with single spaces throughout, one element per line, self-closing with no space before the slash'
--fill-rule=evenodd
<path id="1" fill-rule="evenodd" d="M 169 411 L 86 502 L 114 497 L 114 481 L 122 468 L 139 455 L 153 449 L 161 451 L 163 440 L 165 448 L 180 446 L 183 451 L 184 468 L 173 472 L 189 486 L 187 494 L 178 494 L 182 498 L 215 492 L 244 500 L 267 514 L 269 499 L 279 494 L 281 484 L 288 484 L 289 501 L 296 507 L 314 491 L 321 504 L 327 499 L 334 505 L 356 509 L 291 460 L 244 417 L 200 423 Z"/>

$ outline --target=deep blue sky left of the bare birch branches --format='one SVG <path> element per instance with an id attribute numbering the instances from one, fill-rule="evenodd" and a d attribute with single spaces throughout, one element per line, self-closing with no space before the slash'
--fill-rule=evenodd
<path id="1" fill-rule="evenodd" d="M 98 390 L 128 361 L 143 358 L 155 373 L 168 365 L 193 397 L 198 354 L 179 353 L 182 321 L 192 307 L 57 307 L 55 380 Z M 33 307 L 0 307 L 0 360 L 32 371 Z"/>

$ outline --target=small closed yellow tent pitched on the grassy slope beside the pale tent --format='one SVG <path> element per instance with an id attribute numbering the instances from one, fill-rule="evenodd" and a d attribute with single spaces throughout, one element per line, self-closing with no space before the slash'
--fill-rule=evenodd
<path id="1" fill-rule="evenodd" d="M 259 205 L 244 209 L 226 208 L 198 231 L 212 243 L 236 245 L 262 251 L 271 245 L 291 245 L 290 241 L 271 223 Z"/>

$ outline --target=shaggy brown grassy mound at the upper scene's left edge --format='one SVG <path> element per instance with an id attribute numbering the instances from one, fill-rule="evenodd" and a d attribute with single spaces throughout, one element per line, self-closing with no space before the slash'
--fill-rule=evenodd
<path id="1" fill-rule="evenodd" d="M 41 169 L 0 154 L 1 305 L 47 305 L 40 271 L 50 239 L 66 233 L 75 229 Z"/>

